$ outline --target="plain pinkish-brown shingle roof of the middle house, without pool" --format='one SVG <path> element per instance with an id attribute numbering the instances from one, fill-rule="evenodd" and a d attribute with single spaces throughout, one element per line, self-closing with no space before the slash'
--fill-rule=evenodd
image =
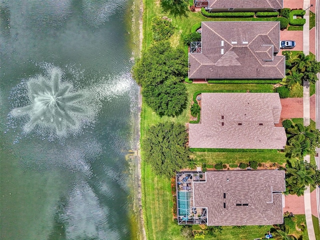
<path id="1" fill-rule="evenodd" d="M 201 93 L 201 122 L 189 124 L 189 147 L 283 149 L 285 130 L 274 126 L 280 113 L 278 93 Z"/>

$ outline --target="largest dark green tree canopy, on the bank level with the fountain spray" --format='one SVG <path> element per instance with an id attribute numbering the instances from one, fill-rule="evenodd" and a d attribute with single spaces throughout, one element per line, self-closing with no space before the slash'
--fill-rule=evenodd
<path id="1" fill-rule="evenodd" d="M 142 53 L 133 77 L 142 87 L 145 102 L 158 115 L 175 116 L 185 108 L 187 56 L 168 41 L 159 41 Z"/>

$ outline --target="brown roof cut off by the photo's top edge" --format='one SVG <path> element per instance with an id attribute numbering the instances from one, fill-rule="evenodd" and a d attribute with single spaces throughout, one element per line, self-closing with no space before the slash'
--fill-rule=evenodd
<path id="1" fill-rule="evenodd" d="M 283 8 L 282 0 L 208 0 L 209 8 Z"/>

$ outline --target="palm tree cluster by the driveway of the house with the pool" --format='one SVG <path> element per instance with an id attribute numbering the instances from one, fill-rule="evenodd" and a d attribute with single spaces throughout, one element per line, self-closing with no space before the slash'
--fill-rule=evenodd
<path id="1" fill-rule="evenodd" d="M 287 163 L 285 171 L 285 187 L 287 194 L 303 195 L 306 185 L 319 184 L 320 171 L 316 165 L 303 160 L 297 160 L 294 165 Z"/>

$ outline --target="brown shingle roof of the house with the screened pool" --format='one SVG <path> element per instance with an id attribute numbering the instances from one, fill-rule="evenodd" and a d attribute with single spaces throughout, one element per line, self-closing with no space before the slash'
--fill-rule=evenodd
<path id="1" fill-rule="evenodd" d="M 194 207 L 207 207 L 208 225 L 283 223 L 284 170 L 207 171 L 206 182 L 193 182 L 193 189 Z"/>

